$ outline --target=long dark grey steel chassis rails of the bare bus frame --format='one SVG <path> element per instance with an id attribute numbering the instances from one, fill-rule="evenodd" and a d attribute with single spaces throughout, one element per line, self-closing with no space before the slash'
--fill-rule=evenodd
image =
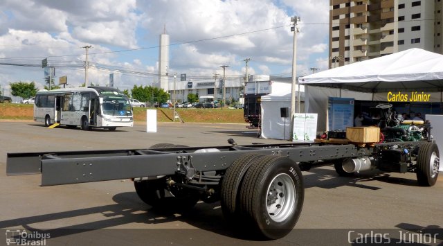
<path id="1" fill-rule="evenodd" d="M 373 148 L 357 148 L 352 144 L 322 146 L 318 143 L 291 143 L 8 153 L 6 170 L 8 175 L 42 173 L 42 186 L 177 173 L 192 178 L 196 172 L 226 170 L 235 159 L 251 152 L 281 155 L 296 162 L 306 162 L 368 156 L 372 155 Z"/>

